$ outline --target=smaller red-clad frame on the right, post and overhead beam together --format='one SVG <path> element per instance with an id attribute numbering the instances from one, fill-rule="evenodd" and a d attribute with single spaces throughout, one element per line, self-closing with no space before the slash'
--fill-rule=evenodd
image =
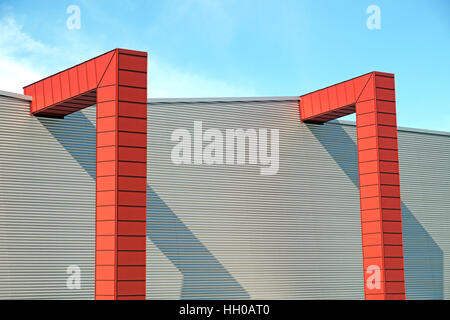
<path id="1" fill-rule="evenodd" d="M 303 122 L 354 112 L 365 297 L 405 299 L 394 75 L 371 72 L 300 97 Z"/>

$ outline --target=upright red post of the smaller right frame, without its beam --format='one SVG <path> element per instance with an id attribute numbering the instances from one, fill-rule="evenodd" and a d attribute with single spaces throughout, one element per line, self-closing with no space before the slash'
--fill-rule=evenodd
<path id="1" fill-rule="evenodd" d="M 365 296 L 405 299 L 392 74 L 375 73 L 356 104 L 356 117 Z"/>

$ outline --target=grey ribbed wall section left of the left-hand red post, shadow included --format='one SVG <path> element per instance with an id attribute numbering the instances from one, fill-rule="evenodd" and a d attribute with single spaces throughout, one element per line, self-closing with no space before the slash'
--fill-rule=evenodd
<path id="1" fill-rule="evenodd" d="M 94 298 L 94 178 L 95 108 L 38 119 L 0 97 L 1 299 Z"/>

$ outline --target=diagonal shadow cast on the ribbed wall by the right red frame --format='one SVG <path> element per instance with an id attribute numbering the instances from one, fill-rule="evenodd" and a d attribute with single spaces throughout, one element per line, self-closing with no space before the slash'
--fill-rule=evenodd
<path id="1" fill-rule="evenodd" d="M 358 154 L 353 139 L 337 123 L 302 124 L 359 188 Z M 405 203 L 401 203 L 407 299 L 444 299 L 444 254 Z"/>

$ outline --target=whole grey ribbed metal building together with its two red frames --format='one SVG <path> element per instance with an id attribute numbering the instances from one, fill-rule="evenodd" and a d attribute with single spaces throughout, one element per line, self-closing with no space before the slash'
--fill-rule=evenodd
<path id="1" fill-rule="evenodd" d="M 147 99 L 146 59 L 0 91 L 0 299 L 450 298 L 450 133 L 393 75 Z"/>

